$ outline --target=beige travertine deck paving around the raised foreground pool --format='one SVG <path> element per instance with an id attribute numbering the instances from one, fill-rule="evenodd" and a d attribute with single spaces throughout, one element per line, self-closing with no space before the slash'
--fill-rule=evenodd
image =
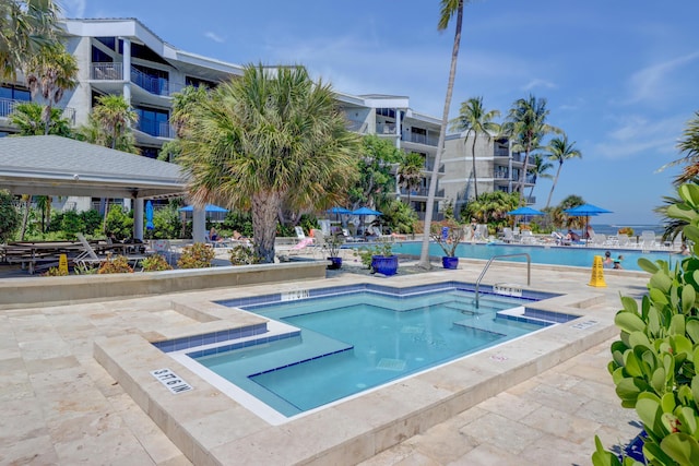
<path id="1" fill-rule="evenodd" d="M 441 279 L 474 282 L 482 266 L 464 262 L 460 271 L 435 274 Z M 608 320 L 619 307 L 619 292 L 640 296 L 648 275 L 630 272 L 605 272 L 605 275 L 607 287 L 597 288 L 587 285 L 590 271 L 536 268 L 532 271 L 531 287 L 602 295 L 603 302 L 590 312 Z M 523 276 L 521 266 L 498 265 L 484 283 L 522 283 Z M 324 280 L 322 286 L 357 279 L 337 276 Z M 423 278 L 411 275 L 360 279 L 391 284 L 420 283 Z M 279 288 L 279 285 L 266 285 L 246 287 L 246 291 L 253 289 L 261 294 Z M 190 464 L 121 384 L 95 360 L 94 344 L 125 335 L 147 338 L 162 328 L 171 332 L 178 326 L 199 324 L 173 309 L 174 297 L 180 302 L 201 301 L 235 296 L 239 291 L 199 291 L 0 311 L 0 464 Z M 621 409 L 614 394 L 606 372 L 608 345 L 609 342 L 596 345 L 445 422 L 403 439 L 364 464 L 590 464 L 595 433 L 606 445 L 613 445 L 628 441 L 639 430 L 633 413 Z M 434 382 L 440 383 L 447 382 Z M 372 405 L 371 409 L 377 408 Z M 357 415 L 360 417 L 362 413 Z M 216 429 L 241 427 L 236 426 L 236 419 L 220 422 Z M 288 427 L 270 435 L 269 441 L 264 438 L 266 431 L 257 431 L 249 443 L 250 447 L 275 452 L 270 456 L 274 458 L 285 457 L 280 447 L 304 450 L 310 458 L 308 462 L 313 463 L 313 437 L 332 435 L 333 429 L 351 430 L 351 426 L 313 425 L 306 420 L 304 437 L 293 437 L 294 429 Z M 282 432 L 285 433 L 282 435 Z M 236 449 L 244 447 L 245 443 L 237 442 Z M 237 453 L 228 456 L 226 464 L 241 464 L 245 457 L 262 457 L 239 450 Z M 346 455 L 342 462 L 359 461 Z M 206 461 L 206 464 L 213 463 Z M 275 464 L 280 462 L 275 459 Z"/>

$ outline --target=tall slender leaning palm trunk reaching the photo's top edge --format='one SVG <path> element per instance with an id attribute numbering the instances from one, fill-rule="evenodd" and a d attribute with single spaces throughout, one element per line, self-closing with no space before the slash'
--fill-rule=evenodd
<path id="1" fill-rule="evenodd" d="M 431 231 L 433 211 L 435 210 L 435 194 L 437 192 L 437 174 L 441 164 L 441 154 L 445 151 L 445 136 L 447 135 L 447 124 L 449 122 L 449 107 L 451 106 L 451 95 L 454 91 L 454 80 L 457 77 L 457 62 L 459 61 L 459 47 L 461 46 L 461 26 L 463 24 L 463 5 L 470 0 L 440 0 L 440 14 L 437 28 L 445 31 L 449 22 L 455 15 L 457 26 L 454 28 L 454 41 L 451 49 L 451 65 L 449 68 L 449 81 L 447 83 L 447 95 L 445 96 L 445 109 L 441 115 L 441 126 L 439 128 L 439 141 L 437 142 L 437 154 L 435 155 L 435 167 L 429 179 L 429 192 L 427 194 L 427 205 L 425 208 L 425 226 L 423 231 L 423 247 L 419 254 L 418 266 L 429 270 L 429 231 Z"/>

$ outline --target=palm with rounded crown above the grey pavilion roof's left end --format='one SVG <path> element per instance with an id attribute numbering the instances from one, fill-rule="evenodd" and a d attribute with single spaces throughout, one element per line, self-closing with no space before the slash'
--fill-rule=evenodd
<path id="1" fill-rule="evenodd" d="M 63 93 L 78 85 L 78 61 L 60 43 L 43 47 L 26 65 L 26 82 L 33 96 L 42 95 L 44 108 L 44 134 L 49 133 L 54 104 L 63 98 Z"/>

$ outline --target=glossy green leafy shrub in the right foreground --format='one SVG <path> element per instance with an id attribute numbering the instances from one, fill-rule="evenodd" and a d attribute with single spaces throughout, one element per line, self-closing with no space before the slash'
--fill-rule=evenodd
<path id="1" fill-rule="evenodd" d="M 687 223 L 686 238 L 699 243 L 699 186 L 678 188 L 680 202 L 666 215 Z M 624 309 L 614 322 L 619 340 L 612 344 L 608 370 L 621 406 L 636 410 L 645 431 L 641 435 L 644 464 L 699 464 L 699 248 L 674 270 L 665 261 L 639 259 L 652 274 L 639 303 L 623 297 Z M 641 465 L 631 457 L 623 463 L 605 451 L 595 437 L 595 466 Z"/>

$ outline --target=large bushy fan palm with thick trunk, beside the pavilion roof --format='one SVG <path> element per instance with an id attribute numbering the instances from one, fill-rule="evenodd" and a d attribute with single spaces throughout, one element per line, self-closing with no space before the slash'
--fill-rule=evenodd
<path id="1" fill-rule="evenodd" d="M 274 261 L 277 215 L 332 205 L 356 179 L 358 141 L 330 85 L 303 67 L 246 67 L 192 106 L 179 163 L 196 204 L 250 208 L 256 253 Z"/>

